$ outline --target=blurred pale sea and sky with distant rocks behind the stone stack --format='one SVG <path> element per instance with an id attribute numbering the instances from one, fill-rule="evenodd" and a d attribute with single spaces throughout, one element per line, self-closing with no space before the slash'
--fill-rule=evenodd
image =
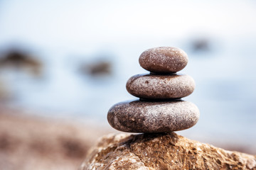
<path id="1" fill-rule="evenodd" d="M 139 55 L 180 47 L 201 118 L 178 134 L 256 154 L 255 21 L 249 0 L 1 0 L 1 109 L 111 129 L 107 111 L 146 73 Z"/>

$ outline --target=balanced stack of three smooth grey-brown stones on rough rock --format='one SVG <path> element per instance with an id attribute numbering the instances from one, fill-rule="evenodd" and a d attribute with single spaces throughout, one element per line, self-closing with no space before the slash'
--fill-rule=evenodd
<path id="1" fill-rule="evenodd" d="M 156 47 L 142 52 L 139 64 L 150 74 L 137 74 L 127 81 L 136 101 L 117 103 L 107 114 L 110 125 L 123 132 L 172 132 L 196 125 L 196 105 L 181 98 L 192 94 L 195 82 L 176 74 L 188 56 L 176 47 Z"/>

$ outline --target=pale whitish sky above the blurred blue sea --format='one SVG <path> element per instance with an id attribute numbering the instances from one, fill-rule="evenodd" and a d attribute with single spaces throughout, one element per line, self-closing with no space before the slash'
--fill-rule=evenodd
<path id="1" fill-rule="evenodd" d="M 184 38 L 193 33 L 256 35 L 252 1 L 0 2 L 0 45 L 55 47 Z"/>

